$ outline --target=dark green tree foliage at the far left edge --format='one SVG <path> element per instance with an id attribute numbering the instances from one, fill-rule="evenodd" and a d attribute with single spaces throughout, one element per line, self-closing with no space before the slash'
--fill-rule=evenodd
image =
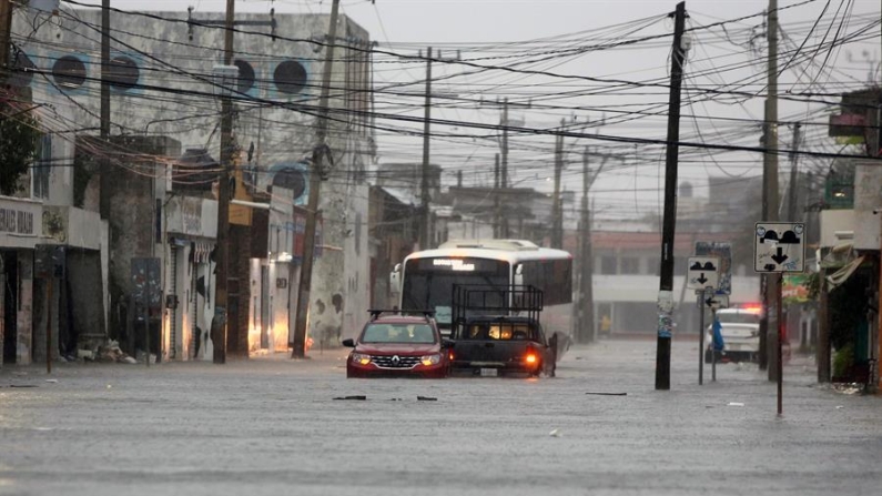
<path id="1" fill-rule="evenodd" d="M 0 101 L 0 193 L 14 194 L 40 144 L 40 123 L 29 111 Z"/>

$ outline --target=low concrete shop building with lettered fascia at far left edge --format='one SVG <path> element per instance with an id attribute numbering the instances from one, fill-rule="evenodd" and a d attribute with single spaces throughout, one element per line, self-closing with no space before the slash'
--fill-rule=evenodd
<path id="1" fill-rule="evenodd" d="M 34 109 L 43 133 L 16 198 L 0 198 L 2 364 L 75 357 L 107 340 L 108 224 L 74 206 L 63 109 Z"/>

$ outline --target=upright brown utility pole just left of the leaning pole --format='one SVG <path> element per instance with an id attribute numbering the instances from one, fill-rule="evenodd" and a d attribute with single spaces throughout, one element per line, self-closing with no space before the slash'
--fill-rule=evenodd
<path id="1" fill-rule="evenodd" d="M 226 22 L 224 24 L 224 64 L 233 63 L 233 27 L 235 0 L 226 0 Z M 230 178 L 232 176 L 233 144 L 233 101 L 224 89 L 221 99 L 221 176 L 217 184 L 217 247 L 215 249 L 216 287 L 214 289 L 214 318 L 211 322 L 211 337 L 214 343 L 212 362 L 226 363 L 226 305 L 227 279 L 230 277 Z"/>

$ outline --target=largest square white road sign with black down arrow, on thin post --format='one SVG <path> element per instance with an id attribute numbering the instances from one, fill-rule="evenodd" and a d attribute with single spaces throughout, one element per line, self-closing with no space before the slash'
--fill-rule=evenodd
<path id="1" fill-rule="evenodd" d="M 797 222 L 758 222 L 754 230 L 753 270 L 756 272 L 803 272 L 805 265 L 805 224 Z"/>

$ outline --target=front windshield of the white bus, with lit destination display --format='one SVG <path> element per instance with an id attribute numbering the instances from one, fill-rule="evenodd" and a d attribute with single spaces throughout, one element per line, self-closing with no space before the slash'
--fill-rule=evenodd
<path id="1" fill-rule="evenodd" d="M 489 259 L 413 259 L 404 267 L 402 310 L 434 310 L 438 324 L 450 323 L 454 284 L 498 286 L 500 306 L 509 285 L 508 262 Z"/>

